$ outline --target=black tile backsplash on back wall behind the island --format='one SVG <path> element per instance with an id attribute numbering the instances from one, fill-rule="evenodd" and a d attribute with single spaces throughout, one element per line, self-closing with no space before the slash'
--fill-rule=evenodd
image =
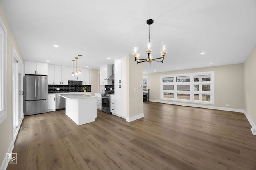
<path id="1" fill-rule="evenodd" d="M 68 85 L 48 85 L 48 93 L 84 92 L 84 86 L 87 87 L 86 92 L 91 92 L 91 85 L 83 85 L 82 81 L 68 81 Z"/>

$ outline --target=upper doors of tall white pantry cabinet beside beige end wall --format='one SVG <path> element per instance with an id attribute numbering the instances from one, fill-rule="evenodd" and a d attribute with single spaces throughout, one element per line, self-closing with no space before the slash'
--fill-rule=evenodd
<path id="1" fill-rule="evenodd" d="M 115 84 L 126 84 L 126 57 L 115 60 Z"/>

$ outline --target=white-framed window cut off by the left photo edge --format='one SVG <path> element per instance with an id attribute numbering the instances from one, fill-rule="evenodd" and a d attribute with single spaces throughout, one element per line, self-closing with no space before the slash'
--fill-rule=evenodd
<path id="1" fill-rule="evenodd" d="M 7 29 L 4 21 L 0 17 L 0 124 L 7 117 L 7 79 L 6 79 L 6 47 L 7 47 Z"/>

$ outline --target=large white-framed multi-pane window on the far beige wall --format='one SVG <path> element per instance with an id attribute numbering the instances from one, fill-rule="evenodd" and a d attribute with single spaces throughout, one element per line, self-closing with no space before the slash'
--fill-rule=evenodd
<path id="1" fill-rule="evenodd" d="M 214 104 L 214 72 L 161 76 L 161 99 Z"/>

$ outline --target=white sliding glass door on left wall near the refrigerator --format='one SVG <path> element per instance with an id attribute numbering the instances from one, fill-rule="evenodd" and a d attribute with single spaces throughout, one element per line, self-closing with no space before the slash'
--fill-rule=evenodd
<path id="1" fill-rule="evenodd" d="M 23 117 L 23 64 L 12 46 L 12 139 L 14 141 Z"/>

